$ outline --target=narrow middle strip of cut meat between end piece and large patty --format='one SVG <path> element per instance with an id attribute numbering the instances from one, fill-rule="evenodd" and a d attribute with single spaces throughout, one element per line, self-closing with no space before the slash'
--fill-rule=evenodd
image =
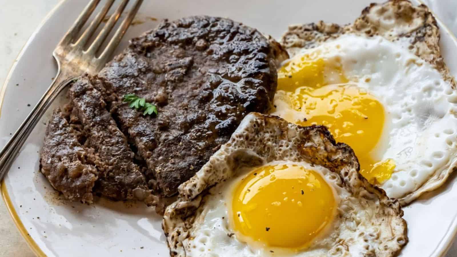
<path id="1" fill-rule="evenodd" d="M 100 174 L 95 190 L 117 200 L 147 198 L 150 190 L 145 177 L 133 163 L 134 153 L 106 110 L 100 91 L 83 76 L 71 86 L 69 96 L 73 112 L 83 125 L 85 146 L 99 156 L 96 166 Z"/>

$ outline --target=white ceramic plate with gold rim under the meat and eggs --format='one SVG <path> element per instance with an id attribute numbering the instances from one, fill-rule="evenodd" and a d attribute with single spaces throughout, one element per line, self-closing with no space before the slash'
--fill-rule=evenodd
<path id="1" fill-rule="evenodd" d="M 0 99 L 0 147 L 3 147 L 27 116 L 56 73 L 51 53 L 73 23 L 86 1 L 64 1 L 45 19 L 27 42 L 13 65 Z M 154 28 L 163 18 L 207 14 L 230 17 L 279 38 L 291 23 L 325 20 L 352 22 L 370 1 L 266 1 L 246 0 L 146 0 L 119 46 L 129 38 Z M 441 26 L 441 49 L 452 74 L 457 75 L 455 37 Z M 54 106 L 65 102 L 60 97 Z M 24 145 L 11 171 L 1 184 L 5 203 L 18 229 L 38 256 L 167 256 L 161 217 L 143 204 L 67 203 L 39 173 L 48 113 Z M 402 256 L 442 256 L 457 229 L 457 186 L 452 176 L 445 186 L 404 208 L 409 243 Z"/>

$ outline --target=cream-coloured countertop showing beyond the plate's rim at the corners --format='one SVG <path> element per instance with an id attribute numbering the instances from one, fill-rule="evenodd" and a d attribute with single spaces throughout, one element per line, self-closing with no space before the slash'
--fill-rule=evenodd
<path id="1" fill-rule="evenodd" d="M 0 0 L 0 87 L 16 56 L 35 28 L 61 0 Z M 455 0 L 424 0 L 437 16 L 457 34 Z M 455 204 L 455 203 L 452 203 Z M 0 200 L 0 257 L 32 257 L 33 253 Z M 446 257 L 457 257 L 457 242 Z"/>

